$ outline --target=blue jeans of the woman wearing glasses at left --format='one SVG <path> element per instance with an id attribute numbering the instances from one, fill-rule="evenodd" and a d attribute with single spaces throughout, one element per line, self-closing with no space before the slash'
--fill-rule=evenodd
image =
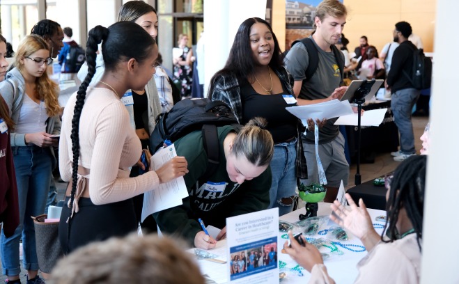
<path id="1" fill-rule="evenodd" d="M 1 266 L 3 274 L 20 274 L 19 244 L 22 234 L 23 265 L 26 270 L 38 270 L 35 228 L 31 216 L 45 211 L 49 191 L 52 157 L 49 148 L 36 145 L 13 147 L 20 223 L 11 237 L 1 230 Z"/>

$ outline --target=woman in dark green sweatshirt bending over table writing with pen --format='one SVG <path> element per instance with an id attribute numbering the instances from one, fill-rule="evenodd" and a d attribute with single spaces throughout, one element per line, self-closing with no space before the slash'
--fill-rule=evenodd
<path id="1" fill-rule="evenodd" d="M 226 218 L 259 210 L 270 205 L 271 169 L 274 142 L 266 120 L 254 118 L 242 129 L 231 125 L 217 127 L 219 165 L 215 173 L 202 180 L 208 166 L 202 132 L 178 139 L 177 155 L 188 161 L 184 176 L 189 197 L 183 204 L 154 213 L 161 232 L 178 235 L 198 248 L 213 248 L 215 239 L 206 235 L 205 225 L 222 228 L 216 240 L 226 237 Z"/>

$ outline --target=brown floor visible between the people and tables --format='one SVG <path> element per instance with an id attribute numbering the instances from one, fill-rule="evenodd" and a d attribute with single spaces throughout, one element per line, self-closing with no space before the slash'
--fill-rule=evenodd
<path id="1" fill-rule="evenodd" d="M 415 137 L 415 145 L 416 149 L 421 149 L 421 141 L 419 137 L 423 134 L 424 127 L 428 123 L 428 118 L 426 117 L 414 117 L 413 118 L 413 128 L 414 128 L 414 137 Z M 373 180 L 378 178 L 385 173 L 389 173 L 390 171 L 394 171 L 396 166 L 400 162 L 394 161 L 393 157 L 391 157 L 390 153 L 382 153 L 375 156 L 375 162 L 373 164 L 361 164 L 360 165 L 360 175 L 361 175 L 361 182 L 366 182 L 368 180 Z M 350 175 L 348 180 L 348 188 L 353 187 L 355 183 L 355 173 L 357 171 L 357 166 L 352 164 L 350 166 Z M 56 182 L 56 187 L 58 187 L 59 192 L 59 200 L 63 199 L 63 194 L 65 191 L 65 183 Z M 0 261 L 1 263 L 1 261 Z M 21 271 L 22 283 L 26 283 L 26 271 Z M 5 276 L 0 276 L 0 281 L 5 281 Z"/>

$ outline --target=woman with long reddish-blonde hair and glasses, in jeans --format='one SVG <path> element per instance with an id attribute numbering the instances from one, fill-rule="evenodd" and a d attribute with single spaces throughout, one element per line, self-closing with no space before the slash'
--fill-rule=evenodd
<path id="1" fill-rule="evenodd" d="M 9 283 L 20 283 L 19 246 L 22 236 L 27 283 L 42 283 L 38 277 L 35 228 L 30 216 L 45 212 L 49 180 L 56 158 L 52 146 L 59 134 L 58 89 L 46 68 L 52 62 L 49 45 L 40 36 L 26 36 L 17 49 L 15 68 L 0 84 L 0 93 L 15 123 L 11 147 L 19 197 L 20 225 L 13 236 L 1 234 L 1 263 Z"/>

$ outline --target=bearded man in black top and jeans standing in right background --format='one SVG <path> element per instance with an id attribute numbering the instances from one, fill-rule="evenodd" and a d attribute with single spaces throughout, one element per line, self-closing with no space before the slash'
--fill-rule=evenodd
<path id="1" fill-rule="evenodd" d="M 410 79 L 412 78 L 414 51 L 417 50 L 417 47 L 408 40 L 411 33 L 409 23 L 395 24 L 394 41 L 400 45 L 394 51 L 391 70 L 386 80 L 386 88 L 390 88 L 392 93 L 392 113 L 394 113 L 394 120 L 400 132 L 400 151 L 391 152 L 395 161 L 403 161 L 411 155 L 416 155 L 411 112 L 421 91 L 414 88 Z"/>

